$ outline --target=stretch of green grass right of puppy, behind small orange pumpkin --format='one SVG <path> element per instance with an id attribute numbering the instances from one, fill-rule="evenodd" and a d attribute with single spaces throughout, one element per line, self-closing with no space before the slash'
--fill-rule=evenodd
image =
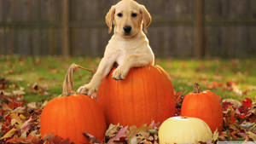
<path id="1" fill-rule="evenodd" d="M 174 77 L 174 89 L 183 91 L 185 95 L 192 91 L 194 82 L 199 82 L 202 89 L 209 89 L 207 84 L 217 82 L 223 86 L 211 89 L 215 94 L 236 100 L 250 97 L 255 101 L 256 60 L 159 60 L 157 63 Z M 247 94 L 239 96 L 233 91 L 223 91 L 228 82 L 236 82 Z"/>

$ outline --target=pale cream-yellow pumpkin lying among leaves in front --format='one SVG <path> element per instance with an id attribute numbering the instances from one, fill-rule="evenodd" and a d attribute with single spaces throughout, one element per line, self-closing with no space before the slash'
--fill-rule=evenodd
<path id="1" fill-rule="evenodd" d="M 196 143 L 212 139 L 212 130 L 200 118 L 172 117 L 159 130 L 160 144 Z"/>

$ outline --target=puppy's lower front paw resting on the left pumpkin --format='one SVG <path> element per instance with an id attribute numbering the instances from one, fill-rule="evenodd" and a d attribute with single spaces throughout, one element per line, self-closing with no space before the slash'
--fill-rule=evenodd
<path id="1" fill-rule="evenodd" d="M 77 90 L 77 93 L 89 95 L 91 98 L 96 98 L 96 91 L 97 91 L 96 86 L 93 86 L 91 84 L 85 84 Z"/>

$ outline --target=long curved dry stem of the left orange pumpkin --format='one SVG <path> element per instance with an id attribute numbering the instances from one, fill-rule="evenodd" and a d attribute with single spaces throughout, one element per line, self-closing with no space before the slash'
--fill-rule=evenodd
<path id="1" fill-rule="evenodd" d="M 75 91 L 73 90 L 73 73 L 78 71 L 78 68 L 81 68 L 83 70 L 86 70 L 88 72 L 94 73 L 93 70 L 90 70 L 88 68 L 84 68 L 83 66 L 79 66 L 75 63 L 71 64 L 69 68 L 67 69 L 67 74 L 63 82 L 62 87 L 62 95 L 73 95 L 75 94 Z"/>

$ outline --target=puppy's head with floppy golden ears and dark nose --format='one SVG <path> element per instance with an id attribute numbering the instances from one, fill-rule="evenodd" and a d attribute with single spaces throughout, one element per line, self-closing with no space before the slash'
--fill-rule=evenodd
<path id="1" fill-rule="evenodd" d="M 141 32 L 144 25 L 144 32 L 151 23 L 151 16 L 148 10 L 133 0 L 122 0 L 109 9 L 106 15 L 108 33 L 112 31 L 122 37 L 134 37 Z"/>

